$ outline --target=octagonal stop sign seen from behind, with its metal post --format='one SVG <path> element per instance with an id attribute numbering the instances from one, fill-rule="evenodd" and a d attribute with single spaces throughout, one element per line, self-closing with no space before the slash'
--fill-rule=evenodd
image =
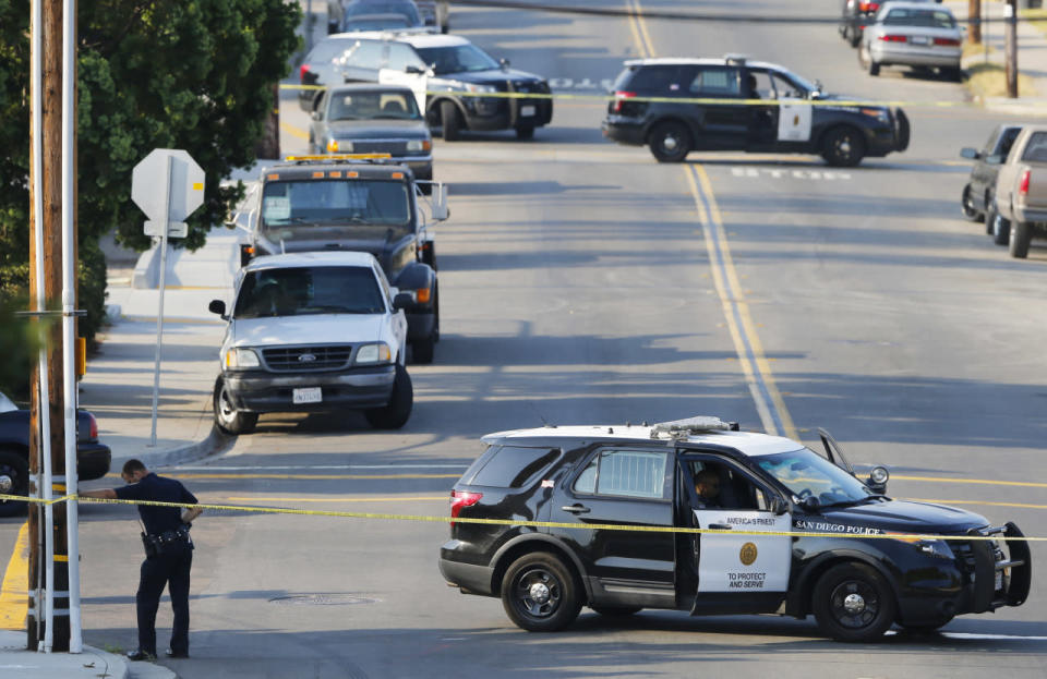
<path id="1" fill-rule="evenodd" d="M 160 191 L 156 187 L 160 186 Z M 204 202 L 204 171 L 181 149 L 154 148 L 134 166 L 131 199 L 149 218 L 146 235 L 160 238 L 159 304 L 156 312 L 156 362 L 153 369 L 153 427 L 149 446 L 156 446 L 156 410 L 160 393 L 160 344 L 164 341 L 164 287 L 167 277 L 168 239 L 185 238 L 183 219 Z"/>

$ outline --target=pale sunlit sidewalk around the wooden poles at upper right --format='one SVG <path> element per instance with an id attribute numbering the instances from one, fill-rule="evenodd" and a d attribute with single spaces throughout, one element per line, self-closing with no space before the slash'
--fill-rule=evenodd
<path id="1" fill-rule="evenodd" d="M 967 0 L 946 0 L 944 5 L 952 10 L 961 25 L 966 25 Z M 982 31 L 983 45 L 988 46 L 988 52 L 978 51 L 967 54 L 963 59 L 964 68 L 985 61 L 1003 65 L 1006 7 L 1004 2 L 983 0 L 982 16 L 992 20 L 984 24 Z M 1047 33 L 1038 26 L 1039 24 L 1028 21 L 1019 20 L 1018 22 L 1018 71 L 1032 81 L 1035 92 L 1020 90 L 1016 99 L 975 95 L 974 99 L 977 104 L 997 113 L 1047 117 Z"/>

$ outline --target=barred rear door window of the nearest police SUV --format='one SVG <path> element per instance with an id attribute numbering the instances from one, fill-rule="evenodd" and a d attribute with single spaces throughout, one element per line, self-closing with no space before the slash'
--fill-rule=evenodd
<path id="1" fill-rule="evenodd" d="M 602 450 L 575 481 L 575 492 L 664 499 L 669 497 L 665 466 L 669 452 Z"/>

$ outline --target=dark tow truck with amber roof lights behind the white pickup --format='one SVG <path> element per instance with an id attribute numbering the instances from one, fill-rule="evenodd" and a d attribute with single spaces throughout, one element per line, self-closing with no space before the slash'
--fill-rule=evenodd
<path id="1" fill-rule="evenodd" d="M 263 170 L 230 222 L 248 232 L 241 266 L 296 252 L 374 255 L 390 284 L 411 294 L 408 342 L 416 363 L 430 363 L 440 340 L 440 286 L 429 222 L 448 215 L 444 184 L 416 180 L 388 155 L 291 156 Z"/>

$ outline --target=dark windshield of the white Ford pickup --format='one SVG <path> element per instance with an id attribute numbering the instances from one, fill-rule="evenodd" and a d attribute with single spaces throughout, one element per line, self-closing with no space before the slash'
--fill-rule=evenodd
<path id="1" fill-rule="evenodd" d="M 249 272 L 233 317 L 382 313 L 382 290 L 369 267 L 317 266 Z"/>

